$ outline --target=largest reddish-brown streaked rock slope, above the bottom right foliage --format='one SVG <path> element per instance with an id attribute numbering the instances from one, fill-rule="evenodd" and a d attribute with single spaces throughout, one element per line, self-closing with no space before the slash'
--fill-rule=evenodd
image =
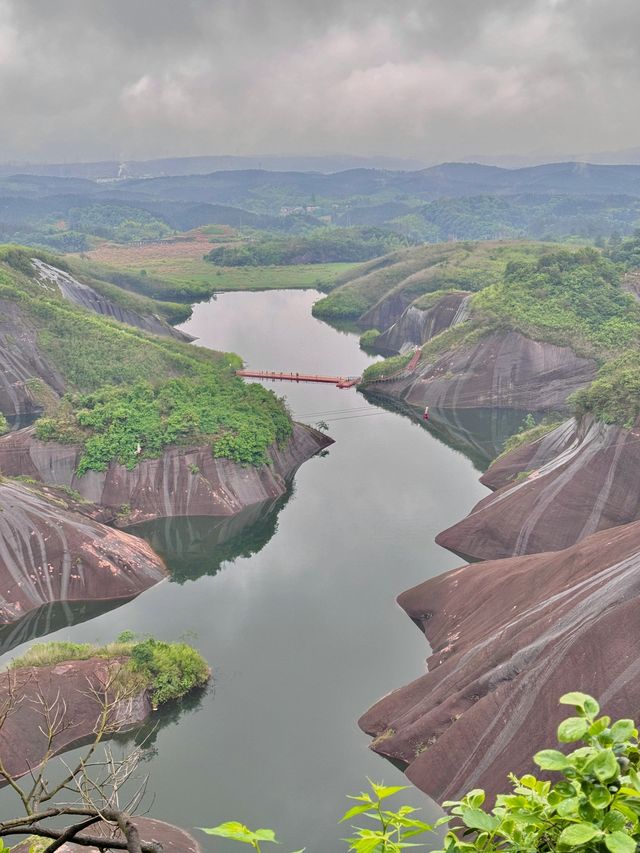
<path id="1" fill-rule="evenodd" d="M 360 720 L 372 748 L 434 799 L 507 790 L 555 746 L 568 689 L 640 707 L 640 522 L 556 552 L 465 566 L 404 593 L 429 671 Z"/>

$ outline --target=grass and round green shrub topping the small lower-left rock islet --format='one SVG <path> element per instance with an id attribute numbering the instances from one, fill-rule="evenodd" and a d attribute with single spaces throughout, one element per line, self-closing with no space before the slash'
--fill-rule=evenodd
<path id="1" fill-rule="evenodd" d="M 154 707 L 180 699 L 195 687 L 202 687 L 211 672 L 206 660 L 186 643 L 166 643 L 148 638 L 138 640 L 131 631 L 123 632 L 115 643 L 36 643 L 11 662 L 11 669 L 55 666 L 74 660 L 123 659 L 120 677 L 149 690 Z"/>

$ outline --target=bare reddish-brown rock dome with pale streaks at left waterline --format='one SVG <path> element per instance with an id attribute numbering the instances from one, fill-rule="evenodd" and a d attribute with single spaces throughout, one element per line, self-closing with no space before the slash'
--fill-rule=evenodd
<path id="1" fill-rule="evenodd" d="M 165 576 L 142 540 L 52 494 L 0 482 L 0 624 L 54 601 L 130 599 Z"/>

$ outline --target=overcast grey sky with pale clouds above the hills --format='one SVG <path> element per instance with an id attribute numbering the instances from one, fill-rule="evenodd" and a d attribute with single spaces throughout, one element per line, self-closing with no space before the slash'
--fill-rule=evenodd
<path id="1" fill-rule="evenodd" d="M 638 0 L 0 0 L 0 161 L 640 144 Z"/>

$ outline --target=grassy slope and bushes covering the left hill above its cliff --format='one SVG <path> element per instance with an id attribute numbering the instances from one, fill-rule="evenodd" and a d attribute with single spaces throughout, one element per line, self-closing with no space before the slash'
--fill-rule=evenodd
<path id="1" fill-rule="evenodd" d="M 238 356 L 91 314 L 34 280 L 26 253 L 12 249 L 4 260 L 0 300 L 19 306 L 69 389 L 37 433 L 80 443 L 80 472 L 104 470 L 112 459 L 133 467 L 169 444 L 196 441 L 210 444 L 216 456 L 260 465 L 269 445 L 291 434 L 284 403 L 234 375 Z"/>

